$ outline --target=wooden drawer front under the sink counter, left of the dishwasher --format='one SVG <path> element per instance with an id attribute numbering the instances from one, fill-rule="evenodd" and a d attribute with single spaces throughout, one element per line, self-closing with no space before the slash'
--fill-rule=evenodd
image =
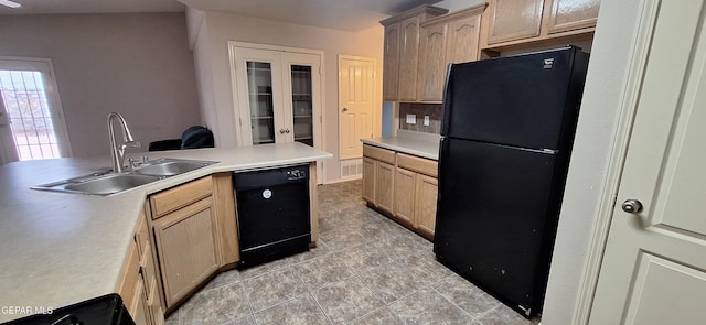
<path id="1" fill-rule="evenodd" d="M 211 176 L 157 193 L 150 196 L 152 219 L 157 219 L 168 213 L 210 196 L 211 194 L 213 194 L 213 182 L 211 181 Z"/>

